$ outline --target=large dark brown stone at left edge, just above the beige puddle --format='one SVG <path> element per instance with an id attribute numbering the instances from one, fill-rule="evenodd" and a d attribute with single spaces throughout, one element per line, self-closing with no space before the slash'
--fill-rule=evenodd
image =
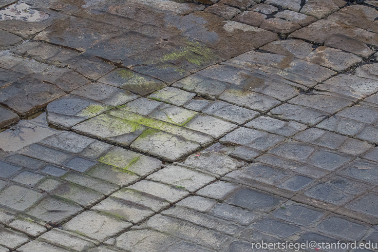
<path id="1" fill-rule="evenodd" d="M 25 116 L 43 109 L 63 95 L 65 93 L 55 85 L 27 77 L 2 88 L 0 102 Z"/>

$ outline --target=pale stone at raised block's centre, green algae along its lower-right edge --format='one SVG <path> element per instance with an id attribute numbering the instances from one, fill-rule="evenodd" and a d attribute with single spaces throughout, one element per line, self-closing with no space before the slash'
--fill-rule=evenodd
<path id="1" fill-rule="evenodd" d="M 152 112 L 150 117 L 182 126 L 197 114 L 197 112 L 164 104 Z"/>

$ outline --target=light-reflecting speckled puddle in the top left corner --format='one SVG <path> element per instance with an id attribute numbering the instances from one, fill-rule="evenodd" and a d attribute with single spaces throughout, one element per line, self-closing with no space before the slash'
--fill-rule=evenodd
<path id="1" fill-rule="evenodd" d="M 0 10 L 0 20 L 23 20 L 38 22 L 50 17 L 49 14 L 30 8 L 30 5 L 19 1 Z"/>

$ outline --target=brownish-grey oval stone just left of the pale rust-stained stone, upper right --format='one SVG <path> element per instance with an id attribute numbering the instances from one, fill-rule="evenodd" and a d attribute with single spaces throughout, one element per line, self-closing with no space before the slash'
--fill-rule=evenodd
<path id="1" fill-rule="evenodd" d="M 299 39 L 273 41 L 261 47 L 261 50 L 287 55 L 294 58 L 305 58 L 314 50 L 311 44 Z"/>

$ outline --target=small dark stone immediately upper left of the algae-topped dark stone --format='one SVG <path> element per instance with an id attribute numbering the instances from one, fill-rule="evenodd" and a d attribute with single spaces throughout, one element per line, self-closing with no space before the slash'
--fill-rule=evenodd
<path id="1" fill-rule="evenodd" d="M 74 58 L 68 67 L 94 80 L 101 78 L 115 68 L 114 65 L 106 63 L 95 56 L 85 54 Z"/>

